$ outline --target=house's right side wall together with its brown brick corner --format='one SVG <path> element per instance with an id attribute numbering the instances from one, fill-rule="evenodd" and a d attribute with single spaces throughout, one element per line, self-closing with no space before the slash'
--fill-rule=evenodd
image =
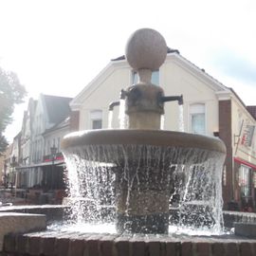
<path id="1" fill-rule="evenodd" d="M 243 102 L 234 96 L 219 101 L 219 117 L 220 137 L 227 146 L 224 171 L 227 182 L 223 182 L 225 208 L 229 208 L 228 203 L 234 201 L 238 202 L 240 210 L 245 210 L 245 200 L 249 201 L 253 208 L 256 206 L 256 120 L 247 112 Z M 254 129 L 251 136 L 248 135 L 248 128 L 252 129 L 251 131 Z M 245 190 L 249 196 L 245 196 Z"/>

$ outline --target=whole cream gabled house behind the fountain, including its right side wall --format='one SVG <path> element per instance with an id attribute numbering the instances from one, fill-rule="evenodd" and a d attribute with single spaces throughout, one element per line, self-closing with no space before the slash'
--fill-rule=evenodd
<path id="1" fill-rule="evenodd" d="M 136 80 L 137 74 L 124 56 L 112 60 L 70 102 L 71 130 L 107 128 L 109 103 L 119 101 L 120 90 Z M 246 209 L 244 201 L 250 201 L 255 207 L 256 143 L 253 141 L 256 119 L 244 102 L 231 88 L 171 48 L 168 48 L 165 63 L 153 73 L 152 80 L 164 89 L 166 96 L 183 95 L 185 132 L 221 137 L 226 143 L 227 160 L 223 174 L 225 208 L 230 207 L 231 201 L 237 202 L 242 210 Z M 113 128 L 119 127 L 118 108 L 114 109 Z M 179 130 L 179 106 L 174 101 L 165 103 L 164 129 Z M 245 143 L 243 136 L 249 143 Z"/>

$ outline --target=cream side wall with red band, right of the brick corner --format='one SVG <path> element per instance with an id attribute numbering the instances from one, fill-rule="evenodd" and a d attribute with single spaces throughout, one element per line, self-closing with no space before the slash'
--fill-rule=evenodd
<path id="1" fill-rule="evenodd" d="M 241 210 L 256 207 L 256 120 L 241 101 L 232 101 L 234 199 Z"/>

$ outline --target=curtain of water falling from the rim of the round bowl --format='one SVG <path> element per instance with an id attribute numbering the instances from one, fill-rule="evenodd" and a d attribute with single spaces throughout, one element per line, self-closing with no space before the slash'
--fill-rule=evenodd
<path id="1" fill-rule="evenodd" d="M 71 222 L 114 223 L 120 184 L 127 189 L 126 214 L 131 192 L 164 186 L 170 192 L 172 227 L 200 234 L 222 232 L 224 154 L 150 145 L 89 145 L 66 150 L 64 157 Z"/>

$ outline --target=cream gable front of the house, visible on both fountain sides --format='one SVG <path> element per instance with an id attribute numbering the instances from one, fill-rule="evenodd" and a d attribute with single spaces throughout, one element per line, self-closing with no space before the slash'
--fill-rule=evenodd
<path id="1" fill-rule="evenodd" d="M 70 103 L 72 110 L 80 111 L 80 130 L 92 129 L 91 113 L 102 111 L 102 128 L 108 127 L 108 105 L 119 101 L 121 89 L 132 85 L 133 72 L 125 60 L 113 61 L 90 82 Z M 204 134 L 213 136 L 218 131 L 218 92 L 229 92 L 220 82 L 191 64 L 177 53 L 168 54 L 159 69 L 159 84 L 166 96 L 183 95 L 185 132 L 192 132 L 194 108 L 204 109 Z M 201 113 L 202 114 L 202 113 Z M 202 115 L 201 115 L 202 116 Z M 202 117 L 201 117 L 202 118 Z M 119 127 L 119 109 L 114 109 L 113 128 Z M 179 130 L 179 106 L 177 102 L 165 103 L 166 130 Z"/>

